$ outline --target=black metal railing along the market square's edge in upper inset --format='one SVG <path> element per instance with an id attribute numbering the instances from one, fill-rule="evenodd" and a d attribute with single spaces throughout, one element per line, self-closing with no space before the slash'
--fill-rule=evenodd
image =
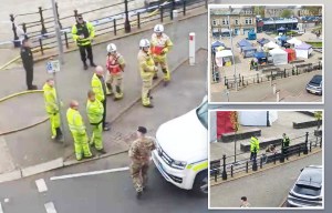
<path id="1" fill-rule="evenodd" d="M 227 89 L 234 89 L 236 87 L 236 83 L 238 87 L 247 87 L 250 84 L 257 84 L 257 83 L 263 83 L 263 82 L 270 82 L 277 79 L 284 79 L 293 75 L 299 75 L 312 71 L 319 71 L 323 69 L 323 65 L 321 61 L 317 63 L 304 63 L 304 64 L 298 64 L 290 69 L 280 69 L 280 68 L 270 68 L 264 70 L 264 72 L 268 72 L 267 74 L 262 73 L 256 73 L 251 75 L 241 75 L 238 74 L 232 77 L 224 77 L 224 84 Z"/>

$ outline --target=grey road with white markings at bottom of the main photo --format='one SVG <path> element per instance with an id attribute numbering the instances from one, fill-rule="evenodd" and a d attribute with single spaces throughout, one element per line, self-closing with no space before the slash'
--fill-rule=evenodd
<path id="1" fill-rule="evenodd" d="M 45 209 L 50 210 L 53 204 L 55 212 L 52 213 L 208 212 L 207 197 L 199 197 L 190 191 L 166 182 L 153 163 L 148 171 L 148 191 L 143 194 L 142 200 L 137 200 L 129 172 L 125 170 L 128 164 L 128 156 L 125 153 L 1 183 L 0 206 L 2 209 L 0 211 L 44 213 Z M 124 169 L 124 171 L 115 172 L 116 169 Z M 110 170 L 114 172 L 107 172 Z M 86 172 L 92 175 L 83 176 L 82 173 L 86 174 Z M 69 178 L 51 180 L 62 175 Z M 73 178 L 73 175 L 79 176 Z"/>

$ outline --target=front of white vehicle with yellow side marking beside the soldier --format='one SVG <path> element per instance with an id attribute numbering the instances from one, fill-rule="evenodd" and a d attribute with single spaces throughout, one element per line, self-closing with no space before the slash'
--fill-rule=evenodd
<path id="1" fill-rule="evenodd" d="M 162 175 L 174 185 L 208 193 L 208 101 L 159 126 L 153 161 Z"/>

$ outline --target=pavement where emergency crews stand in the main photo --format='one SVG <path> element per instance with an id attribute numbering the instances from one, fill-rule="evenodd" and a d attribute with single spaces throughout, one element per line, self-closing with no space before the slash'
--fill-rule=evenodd
<path id="1" fill-rule="evenodd" d="M 166 32 L 170 37 L 174 36 L 172 39 L 175 43 L 173 54 L 170 53 L 168 57 L 169 69 L 176 72 L 174 72 L 173 81 L 167 88 L 159 85 L 156 88 L 156 93 L 153 92 L 155 102 L 153 110 L 136 103 L 141 97 L 141 79 L 136 68 L 137 45 L 139 39 L 151 37 L 151 31 L 114 41 L 118 51 L 125 57 L 127 67 L 124 72 L 124 99 L 118 102 L 114 102 L 112 99 L 107 100 L 106 120 L 113 122 L 111 132 L 104 133 L 105 149 L 108 154 L 125 151 L 127 143 L 133 140 L 133 130 L 138 124 L 145 124 L 153 133 L 158 124 L 180 115 L 200 103 L 206 92 L 207 52 L 199 51 L 196 58 L 197 64 L 189 67 L 186 62 L 188 53 L 184 51 L 188 49 L 188 43 L 184 41 L 187 40 L 189 32 L 196 32 L 196 50 L 206 47 L 207 36 L 205 31 L 200 30 L 206 26 L 206 20 L 207 16 L 203 14 L 166 27 Z M 187 26 L 191 27 L 188 28 Z M 104 64 L 105 44 L 93 47 L 93 51 L 95 62 Z M 77 51 L 66 53 L 65 64 L 56 74 L 56 81 L 59 95 L 64 103 L 62 113 L 68 109 L 70 100 L 76 99 L 81 103 L 80 111 L 83 112 L 86 121 L 84 113 L 85 95 L 90 88 L 93 69 L 83 71 L 81 63 Z M 45 62 L 35 64 L 34 75 L 34 83 L 41 88 L 45 79 L 49 78 L 45 72 Z M 0 77 L 0 97 L 25 90 L 22 68 L 1 71 Z M 193 93 L 193 91 L 195 92 Z M 188 99 L 188 101 L 183 102 L 184 99 Z M 22 128 L 43 119 L 45 112 L 42 102 L 42 93 L 24 94 L 1 102 L 0 129 Z M 179 102 L 181 104 L 178 104 Z M 120 114 L 123 115 L 118 116 Z M 60 156 L 64 160 L 73 160 L 72 139 L 69 132 L 65 131 L 65 145 L 63 145 L 51 141 L 49 125 L 45 122 L 13 134 L 0 135 L 0 144 L 3 148 L 0 149 L 0 155 L 8 156 L 7 161 L 0 163 L 0 173 L 44 163 Z"/>

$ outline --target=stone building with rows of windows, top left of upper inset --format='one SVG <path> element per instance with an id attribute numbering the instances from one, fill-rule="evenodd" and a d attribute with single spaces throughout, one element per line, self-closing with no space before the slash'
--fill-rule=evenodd
<path id="1" fill-rule="evenodd" d="M 256 31 L 253 7 L 211 9 L 210 24 L 215 37 L 229 36 L 229 30 L 234 34 L 248 34 Z"/>

